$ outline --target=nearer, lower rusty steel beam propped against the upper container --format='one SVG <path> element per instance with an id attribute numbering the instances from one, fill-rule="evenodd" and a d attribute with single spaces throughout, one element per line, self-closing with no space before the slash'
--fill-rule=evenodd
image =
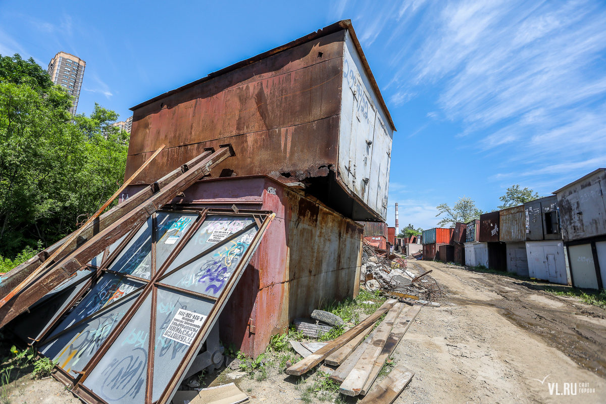
<path id="1" fill-rule="evenodd" d="M 85 242 L 69 256 L 65 257 L 62 265 L 56 265 L 50 268 L 48 272 L 38 281 L 26 288 L 22 293 L 16 295 L 0 308 L 0 327 L 6 325 L 10 320 L 21 314 L 23 311 L 38 301 L 42 296 L 52 291 L 59 283 L 71 277 L 76 271 L 84 267 L 85 263 L 93 259 L 101 251 L 105 250 L 113 242 L 118 240 L 133 227 L 147 220 L 151 214 L 159 210 L 165 204 L 168 204 L 178 193 L 187 189 L 202 176 L 210 173 L 211 168 L 215 167 L 227 157 L 235 156 L 231 145 L 224 145 L 218 151 L 200 161 L 193 167 L 177 176 L 161 190 L 157 191 L 150 199 L 144 202 L 132 211 L 122 216 L 115 223 L 99 232 L 92 239 Z M 151 187 L 158 187 L 158 182 Z"/>

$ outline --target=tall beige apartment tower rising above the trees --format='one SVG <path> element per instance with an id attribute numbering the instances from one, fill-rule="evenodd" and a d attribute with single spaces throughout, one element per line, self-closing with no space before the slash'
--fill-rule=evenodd
<path id="1" fill-rule="evenodd" d="M 85 61 L 65 52 L 57 53 L 48 64 L 48 75 L 53 79 L 53 82 L 65 87 L 67 92 L 74 97 L 72 108 L 70 108 L 72 114 L 76 114 L 76 108 L 78 108 L 85 67 Z"/>

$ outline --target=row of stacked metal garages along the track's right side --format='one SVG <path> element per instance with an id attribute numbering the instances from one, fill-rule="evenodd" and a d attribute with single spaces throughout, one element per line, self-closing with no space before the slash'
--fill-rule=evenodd
<path id="1" fill-rule="evenodd" d="M 482 265 L 562 285 L 606 286 L 606 170 L 524 205 L 423 231 L 423 259 Z"/>

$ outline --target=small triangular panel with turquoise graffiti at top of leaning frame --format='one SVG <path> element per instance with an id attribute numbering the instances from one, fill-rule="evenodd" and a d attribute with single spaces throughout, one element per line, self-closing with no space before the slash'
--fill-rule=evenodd
<path id="1" fill-rule="evenodd" d="M 176 247 L 181 236 L 198 217 L 197 214 L 159 212 L 156 217 L 156 269 L 168 258 Z"/>

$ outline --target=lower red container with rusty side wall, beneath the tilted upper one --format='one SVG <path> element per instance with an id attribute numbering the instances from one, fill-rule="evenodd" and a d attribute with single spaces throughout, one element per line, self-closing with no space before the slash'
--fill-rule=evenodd
<path id="1" fill-rule="evenodd" d="M 267 176 L 220 178 L 196 182 L 172 203 L 276 214 L 219 318 L 221 340 L 248 356 L 322 302 L 358 293 L 362 226 L 299 190 Z"/>

